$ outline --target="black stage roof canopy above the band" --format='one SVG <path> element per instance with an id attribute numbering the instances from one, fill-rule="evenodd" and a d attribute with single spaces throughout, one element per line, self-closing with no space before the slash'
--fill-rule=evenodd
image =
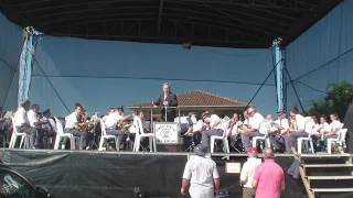
<path id="1" fill-rule="evenodd" d="M 267 48 L 288 45 L 343 0 L 1 0 L 0 11 L 47 35 Z"/>

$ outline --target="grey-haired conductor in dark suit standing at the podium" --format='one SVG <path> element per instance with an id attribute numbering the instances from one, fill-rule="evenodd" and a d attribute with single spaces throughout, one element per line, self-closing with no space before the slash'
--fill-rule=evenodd
<path id="1" fill-rule="evenodd" d="M 163 94 L 153 102 L 154 106 L 162 107 L 161 114 L 162 120 L 165 122 L 173 122 L 175 118 L 175 108 L 178 107 L 176 95 L 170 91 L 171 85 L 168 82 L 163 84 Z M 165 120 L 165 107 L 167 107 L 167 120 Z M 172 107 L 172 108 L 169 108 Z"/>

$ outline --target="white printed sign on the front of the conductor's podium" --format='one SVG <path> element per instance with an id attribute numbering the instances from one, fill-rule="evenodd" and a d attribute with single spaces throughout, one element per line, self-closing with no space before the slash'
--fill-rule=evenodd
<path id="1" fill-rule="evenodd" d="M 157 144 L 180 144 L 180 133 L 176 122 L 154 122 Z"/>

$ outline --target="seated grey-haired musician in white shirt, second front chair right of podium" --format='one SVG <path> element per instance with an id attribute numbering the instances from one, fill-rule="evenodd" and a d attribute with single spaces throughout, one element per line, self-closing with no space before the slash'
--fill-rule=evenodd
<path id="1" fill-rule="evenodd" d="M 249 107 L 247 109 L 247 113 L 249 114 L 249 121 L 248 124 L 244 124 L 243 130 L 240 130 L 242 138 L 243 138 L 243 146 L 245 148 L 245 152 L 248 151 L 249 147 L 252 147 L 252 139 L 254 136 L 264 136 L 265 134 L 259 132 L 259 128 L 261 122 L 264 121 L 264 117 L 256 112 L 255 107 Z"/>

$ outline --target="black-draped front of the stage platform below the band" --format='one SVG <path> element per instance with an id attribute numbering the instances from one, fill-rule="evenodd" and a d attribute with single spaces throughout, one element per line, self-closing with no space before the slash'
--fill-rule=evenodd
<path id="1" fill-rule="evenodd" d="M 0 152 L 3 164 L 21 173 L 34 185 L 45 187 L 55 197 L 67 198 L 129 198 L 133 197 L 136 187 L 145 191 L 146 197 L 182 197 L 181 177 L 188 158 L 192 156 L 193 153 L 7 148 Z M 328 163 L 331 160 L 352 160 L 350 154 L 301 156 Z M 211 157 L 217 163 L 221 174 L 221 191 L 229 191 L 236 198 L 242 197 L 239 175 L 225 174 L 225 162 L 229 157 L 229 161 L 243 164 L 247 155 L 215 153 Z M 277 154 L 276 161 L 287 172 L 295 157 L 291 154 Z M 308 197 L 302 180 L 293 179 L 286 174 L 286 190 L 281 197 Z"/>

